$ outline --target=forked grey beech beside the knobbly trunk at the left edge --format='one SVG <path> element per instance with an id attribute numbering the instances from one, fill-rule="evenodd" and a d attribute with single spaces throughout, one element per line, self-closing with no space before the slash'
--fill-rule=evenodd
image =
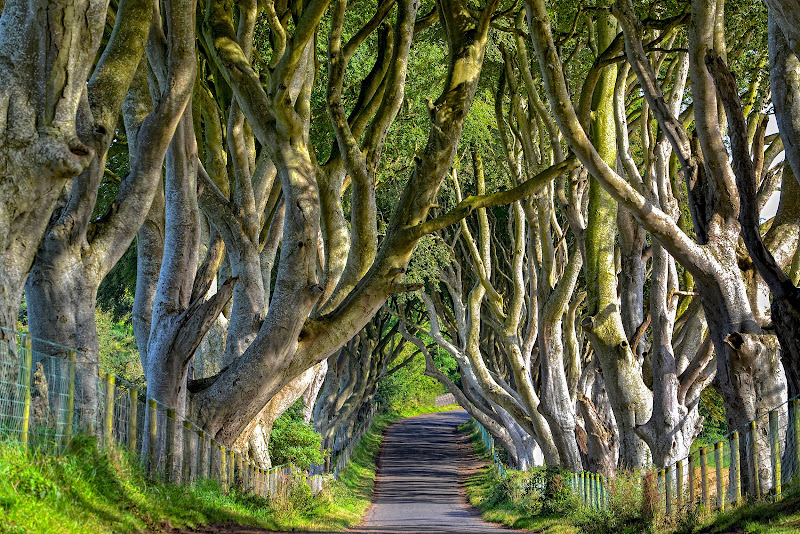
<path id="1" fill-rule="evenodd" d="M 162 183 L 167 147 L 194 87 L 194 29 L 186 29 L 186 9 L 188 5 L 168 6 L 164 35 L 152 31 L 161 17 L 153 14 L 150 2 L 120 4 L 114 30 L 87 85 L 83 120 L 87 132 L 92 132 L 87 142 L 94 158 L 63 191 L 25 286 L 31 333 L 77 348 L 90 360 L 99 356 L 94 323 L 97 289 L 150 209 Z M 143 59 L 148 34 L 149 57 Z M 147 65 L 160 82 L 153 88 L 155 102 L 147 87 Z M 123 107 L 130 172 L 106 213 L 91 220 Z M 36 350 L 66 357 L 66 349 L 59 351 L 52 344 Z M 96 373 L 86 361 L 79 365 L 86 367 L 78 373 L 80 398 L 91 410 Z"/>

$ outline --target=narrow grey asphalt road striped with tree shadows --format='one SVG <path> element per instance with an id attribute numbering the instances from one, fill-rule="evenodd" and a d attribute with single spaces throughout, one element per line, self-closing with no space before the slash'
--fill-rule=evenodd
<path id="1" fill-rule="evenodd" d="M 386 431 L 375 493 L 358 533 L 513 532 L 481 520 L 464 497 L 460 474 L 474 463 L 472 446 L 456 427 L 463 410 L 404 419 Z M 472 460 L 472 461 L 471 461 Z"/>

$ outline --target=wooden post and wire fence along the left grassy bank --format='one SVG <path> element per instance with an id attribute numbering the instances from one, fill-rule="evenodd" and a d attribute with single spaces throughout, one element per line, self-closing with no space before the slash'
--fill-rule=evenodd
<path id="1" fill-rule="evenodd" d="M 103 448 L 136 453 L 154 479 L 191 484 L 211 478 L 225 491 L 265 498 L 297 482 L 313 493 L 323 488 L 325 477 L 292 464 L 259 467 L 76 350 L 41 340 L 33 350 L 31 336 L 2 330 L 0 440 L 6 443 L 57 455 L 83 433 Z"/>

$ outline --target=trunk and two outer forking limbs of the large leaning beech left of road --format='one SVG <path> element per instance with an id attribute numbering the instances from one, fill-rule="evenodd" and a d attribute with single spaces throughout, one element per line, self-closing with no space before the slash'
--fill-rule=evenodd
<path id="1" fill-rule="evenodd" d="M 308 79 L 308 71 L 303 70 L 311 68 L 311 48 L 307 43 L 324 4 L 313 3 L 297 23 L 292 42 L 287 42 L 286 51 L 275 66 L 268 87 L 270 97 L 260 84 L 254 85 L 258 83 L 257 76 L 237 51 L 231 23 L 222 14 L 221 6 L 210 3 L 207 9 L 204 34 L 215 63 L 231 84 L 258 141 L 275 161 L 286 206 L 279 273 L 264 323 L 242 357 L 196 396 L 197 418 L 223 441 L 235 439 L 271 395 L 351 339 L 386 298 L 403 287 L 399 282 L 418 239 L 408 228 L 425 220 L 452 161 L 478 81 L 488 13 L 494 8 L 494 4 L 487 6 L 476 22 L 451 2 L 442 7 L 451 65 L 443 94 L 431 107 L 434 126 L 428 148 L 417 161 L 369 271 L 336 310 L 309 319 L 323 288 L 316 280 L 316 171 L 309 159 L 310 150 L 301 148 L 307 146 L 303 132 L 307 131 L 310 118 L 308 93 L 303 92 L 302 80 Z M 226 42 L 231 46 L 227 47 Z M 231 65 L 236 69 L 229 69 Z M 285 90 L 288 93 L 282 92 Z M 273 129 L 276 124 L 277 129 Z"/>

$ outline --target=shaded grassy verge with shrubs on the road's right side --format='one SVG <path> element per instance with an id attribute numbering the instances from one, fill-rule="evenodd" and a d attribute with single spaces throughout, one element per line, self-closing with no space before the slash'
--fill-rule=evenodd
<path id="1" fill-rule="evenodd" d="M 542 534 L 800 533 L 798 491 L 786 493 L 777 502 L 744 505 L 710 517 L 700 509 L 685 507 L 667 520 L 657 507 L 655 517 L 647 513 L 640 484 L 620 481 L 610 488 L 608 508 L 584 509 L 569 495 L 565 473 L 539 468 L 525 473 L 509 471 L 501 478 L 490 463 L 477 428 L 470 422 L 460 430 L 470 436 L 476 453 L 487 460 L 487 465 L 466 482 L 470 503 L 487 521 Z M 544 488 L 544 495 L 541 490 L 525 489 L 530 487 Z"/>

